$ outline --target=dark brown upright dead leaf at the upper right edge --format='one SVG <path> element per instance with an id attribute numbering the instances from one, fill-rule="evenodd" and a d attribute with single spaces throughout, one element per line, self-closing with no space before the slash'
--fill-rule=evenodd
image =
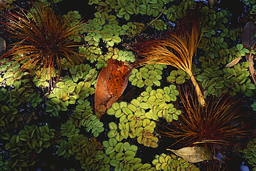
<path id="1" fill-rule="evenodd" d="M 244 26 L 244 30 L 241 34 L 241 43 L 244 46 L 251 48 L 254 43 L 254 32 L 255 32 L 255 25 L 253 21 L 248 21 L 246 26 Z"/>

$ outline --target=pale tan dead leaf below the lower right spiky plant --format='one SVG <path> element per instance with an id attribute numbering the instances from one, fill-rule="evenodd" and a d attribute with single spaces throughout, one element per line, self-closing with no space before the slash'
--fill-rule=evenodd
<path id="1" fill-rule="evenodd" d="M 174 154 L 179 157 L 182 157 L 184 160 L 189 161 L 191 163 L 198 163 L 200 161 L 212 160 L 213 155 L 212 152 L 208 148 L 194 146 L 194 147 L 186 147 L 181 148 L 179 150 L 171 150 Z"/>

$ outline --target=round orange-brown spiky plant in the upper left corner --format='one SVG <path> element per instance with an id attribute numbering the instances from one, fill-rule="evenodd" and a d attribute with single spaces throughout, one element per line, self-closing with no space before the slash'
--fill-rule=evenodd
<path id="1" fill-rule="evenodd" d="M 1 15 L 1 24 L 12 39 L 10 50 L 1 57 L 21 63 L 21 69 L 39 70 L 41 74 L 55 72 L 55 67 L 61 70 L 61 61 L 65 57 L 70 63 L 82 62 L 82 55 L 75 49 L 80 46 L 73 41 L 74 36 L 82 32 L 84 23 L 77 21 L 68 25 L 73 18 L 66 16 L 58 18 L 53 10 L 42 3 L 31 8 L 31 12 L 19 8 L 21 12 L 5 12 Z M 42 71 L 40 70 L 42 68 Z"/>

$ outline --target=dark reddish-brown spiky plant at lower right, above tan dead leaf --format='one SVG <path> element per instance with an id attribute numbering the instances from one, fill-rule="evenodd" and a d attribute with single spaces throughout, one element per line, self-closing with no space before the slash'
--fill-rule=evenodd
<path id="1" fill-rule="evenodd" d="M 248 120 L 246 112 L 241 110 L 241 103 L 232 99 L 229 94 L 220 97 L 209 97 L 205 107 L 201 106 L 193 92 L 186 88 L 182 90 L 181 102 L 183 114 L 179 122 L 173 121 L 177 130 L 163 132 L 167 137 L 179 137 L 179 141 L 187 145 L 196 143 L 234 145 L 238 139 L 248 137 Z M 247 121 L 247 122 L 246 122 Z"/>

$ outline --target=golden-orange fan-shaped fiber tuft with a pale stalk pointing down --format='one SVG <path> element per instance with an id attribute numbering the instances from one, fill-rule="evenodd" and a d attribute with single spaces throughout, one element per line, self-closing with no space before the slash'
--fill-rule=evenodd
<path id="1" fill-rule="evenodd" d="M 159 63 L 174 66 L 185 71 L 192 81 L 197 97 L 202 106 L 205 99 L 194 74 L 192 73 L 192 58 L 199 45 L 199 23 L 191 21 L 176 32 L 167 32 L 166 37 L 139 43 L 140 48 L 135 48 L 138 56 L 144 57 L 139 63 Z"/>

